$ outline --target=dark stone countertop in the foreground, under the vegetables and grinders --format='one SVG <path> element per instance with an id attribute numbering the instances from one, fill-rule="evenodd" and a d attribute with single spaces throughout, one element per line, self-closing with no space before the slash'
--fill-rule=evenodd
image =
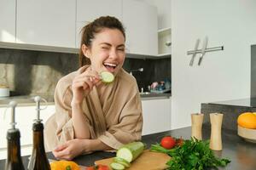
<path id="1" fill-rule="evenodd" d="M 202 136 L 203 139 L 210 139 L 210 129 L 203 127 Z M 172 135 L 174 137 L 183 137 L 183 139 L 189 139 L 191 134 L 190 127 L 184 127 L 172 131 L 167 131 L 163 133 L 154 133 L 143 136 L 143 142 L 150 147 L 150 144 L 155 144 L 160 142 L 160 139 L 166 135 Z M 225 157 L 230 159 L 230 164 L 227 167 L 219 167 L 218 169 L 229 169 L 229 170 L 255 170 L 256 169 L 256 144 L 248 143 L 244 141 L 239 136 L 237 136 L 236 131 L 223 129 L 222 131 L 222 141 L 223 150 L 214 151 L 215 155 L 218 157 Z M 54 159 L 51 153 L 47 154 L 50 159 Z M 79 156 L 73 161 L 79 163 L 79 165 L 91 166 L 94 161 L 115 156 L 114 153 L 108 152 L 95 152 L 90 155 Z M 23 156 L 23 162 L 27 166 L 28 156 Z M 4 168 L 5 160 L 0 161 L 0 169 Z"/>

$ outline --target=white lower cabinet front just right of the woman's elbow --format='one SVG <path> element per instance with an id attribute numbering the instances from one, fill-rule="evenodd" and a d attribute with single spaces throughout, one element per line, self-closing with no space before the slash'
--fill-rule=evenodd
<path id="1" fill-rule="evenodd" d="M 171 129 L 171 98 L 143 100 L 143 135 Z"/>

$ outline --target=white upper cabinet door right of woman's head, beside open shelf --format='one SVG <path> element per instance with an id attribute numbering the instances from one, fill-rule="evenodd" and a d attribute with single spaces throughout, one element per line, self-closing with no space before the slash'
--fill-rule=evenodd
<path id="1" fill-rule="evenodd" d="M 157 55 L 157 9 L 147 3 L 123 1 L 126 47 L 130 54 Z"/>

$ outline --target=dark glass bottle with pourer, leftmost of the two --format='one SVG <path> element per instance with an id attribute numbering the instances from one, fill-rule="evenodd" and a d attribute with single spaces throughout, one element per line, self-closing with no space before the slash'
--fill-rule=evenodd
<path id="1" fill-rule="evenodd" d="M 20 156 L 20 130 L 15 128 L 15 107 L 17 103 L 11 101 L 11 128 L 7 131 L 7 159 L 5 170 L 25 170 Z"/>

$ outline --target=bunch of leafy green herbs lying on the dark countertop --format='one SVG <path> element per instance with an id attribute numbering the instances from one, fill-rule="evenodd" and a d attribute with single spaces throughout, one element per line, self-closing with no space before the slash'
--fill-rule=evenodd
<path id="1" fill-rule="evenodd" d="M 219 159 L 214 156 L 209 148 L 209 140 L 191 138 L 184 140 L 182 145 L 177 145 L 171 150 L 166 150 L 160 144 L 152 144 L 150 150 L 172 156 L 172 159 L 166 163 L 168 169 L 202 170 L 207 167 L 225 167 L 230 163 L 228 159 Z"/>

